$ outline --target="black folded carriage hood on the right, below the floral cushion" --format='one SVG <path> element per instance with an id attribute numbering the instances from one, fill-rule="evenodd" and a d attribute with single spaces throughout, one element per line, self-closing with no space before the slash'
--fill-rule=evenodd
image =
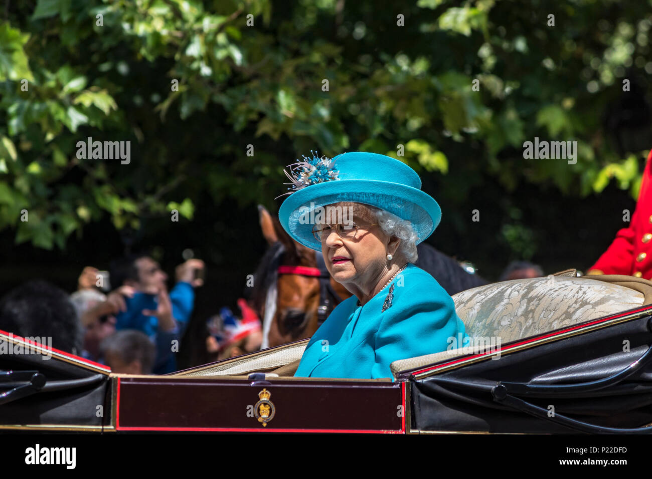
<path id="1" fill-rule="evenodd" d="M 411 432 L 652 433 L 652 308 L 402 371 Z"/>

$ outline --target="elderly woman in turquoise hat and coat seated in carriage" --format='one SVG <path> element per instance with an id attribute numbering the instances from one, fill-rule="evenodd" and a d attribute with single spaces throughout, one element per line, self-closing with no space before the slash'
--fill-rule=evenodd
<path id="1" fill-rule="evenodd" d="M 279 211 L 282 226 L 321 251 L 333 279 L 353 294 L 312 336 L 295 375 L 391 377 L 394 360 L 443 351 L 449 338 L 464 334 L 451 297 L 414 265 L 416 246 L 437 227 L 441 210 L 413 169 L 351 152 L 306 158 L 288 177 L 293 192 Z M 306 222 L 314 209 L 353 218 Z"/>

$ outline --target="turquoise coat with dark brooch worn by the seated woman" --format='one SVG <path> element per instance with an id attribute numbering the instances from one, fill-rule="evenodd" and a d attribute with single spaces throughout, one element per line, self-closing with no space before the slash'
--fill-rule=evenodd
<path id="1" fill-rule="evenodd" d="M 408 263 L 364 306 L 355 296 L 338 304 L 310 338 L 295 376 L 393 378 L 393 361 L 453 349 L 460 333 L 466 337 L 452 298 Z"/>

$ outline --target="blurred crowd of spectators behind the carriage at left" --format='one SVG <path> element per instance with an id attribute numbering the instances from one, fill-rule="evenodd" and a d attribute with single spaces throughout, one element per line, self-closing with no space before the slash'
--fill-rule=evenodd
<path id="1" fill-rule="evenodd" d="M 49 337 L 54 349 L 106 364 L 114 373 L 166 374 L 177 370 L 177 352 L 194 309 L 205 265 L 188 259 L 168 275 L 149 255 L 114 261 L 109 271 L 85 267 L 70 294 L 31 280 L 0 299 L 0 330 L 14 336 Z M 242 317 L 228 308 L 206 321 L 205 347 L 217 360 L 256 351 L 258 315 L 238 300 Z"/>

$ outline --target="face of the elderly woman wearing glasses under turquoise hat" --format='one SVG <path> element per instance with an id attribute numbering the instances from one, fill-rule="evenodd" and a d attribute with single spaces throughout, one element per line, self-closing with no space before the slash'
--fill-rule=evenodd
<path id="1" fill-rule="evenodd" d="M 349 204 L 336 203 L 329 206 Z M 377 222 L 366 206 L 354 204 L 353 222 L 363 226 L 358 229 L 355 238 L 341 238 L 332 225 L 333 228 L 321 241 L 321 252 L 326 268 L 336 282 L 345 287 L 347 284 L 353 284 L 364 291 L 368 287 L 374 287 L 379 278 L 387 272 L 387 254 L 394 254 L 396 246 L 390 246 L 391 237 L 385 235 L 378 225 L 366 227 Z M 351 291 L 349 287 L 347 289 Z"/>

